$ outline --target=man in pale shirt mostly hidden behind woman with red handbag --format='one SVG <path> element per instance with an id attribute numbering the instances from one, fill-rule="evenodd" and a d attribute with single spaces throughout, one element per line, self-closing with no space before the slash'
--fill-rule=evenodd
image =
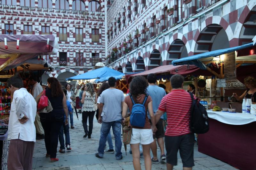
<path id="1" fill-rule="evenodd" d="M 32 89 L 32 96 L 34 99 L 36 99 L 36 96 L 38 96 L 41 92 L 43 92 L 43 87 L 37 82 L 36 77 L 30 77 L 29 78 L 29 84 L 33 85 Z M 36 140 L 44 139 L 44 129 L 40 122 L 40 116 L 36 114 Z"/>

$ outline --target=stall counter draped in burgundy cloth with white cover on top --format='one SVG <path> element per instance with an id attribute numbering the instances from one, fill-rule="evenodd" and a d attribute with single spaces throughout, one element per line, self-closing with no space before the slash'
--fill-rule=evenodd
<path id="1" fill-rule="evenodd" d="M 198 151 L 238 169 L 256 169 L 256 116 L 207 111 L 209 131 L 198 134 Z"/>

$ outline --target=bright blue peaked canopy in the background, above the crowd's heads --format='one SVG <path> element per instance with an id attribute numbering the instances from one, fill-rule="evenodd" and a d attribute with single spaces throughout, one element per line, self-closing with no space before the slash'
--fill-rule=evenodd
<path id="1" fill-rule="evenodd" d="M 89 80 L 94 78 L 106 78 L 106 77 L 115 77 L 115 76 L 124 76 L 120 71 L 116 71 L 110 69 L 108 67 L 101 67 L 99 69 L 95 69 L 84 74 L 79 74 L 74 77 L 67 78 L 66 80 Z"/>

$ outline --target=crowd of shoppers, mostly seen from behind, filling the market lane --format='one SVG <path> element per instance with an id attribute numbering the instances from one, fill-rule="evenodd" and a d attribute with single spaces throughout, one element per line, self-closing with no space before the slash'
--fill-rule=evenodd
<path id="1" fill-rule="evenodd" d="M 8 139 L 11 140 L 8 157 L 12 158 L 12 161 L 8 158 L 8 168 L 32 169 L 36 139 L 44 139 L 45 156 L 50 157 L 52 162 L 59 160 L 56 158 L 58 140 L 60 153 L 64 153 L 65 149 L 71 150 L 69 122 L 70 128 L 74 129 L 73 112 L 77 109 L 82 114 L 84 138 L 90 139 L 92 136 L 95 113 L 101 124 L 99 147 L 95 156 L 103 158 L 104 153 L 115 152 L 117 160 L 123 159 L 122 124 L 129 122 L 133 105 L 140 103 L 145 106 L 147 115 L 144 127 L 132 126 L 130 153 L 134 169 L 141 169 L 142 155 L 147 170 L 151 169 L 152 163 L 160 161 L 166 161 L 167 169 L 172 169 L 177 165 L 178 150 L 183 169 L 192 169 L 194 134 L 189 129 L 192 100 L 189 93 L 182 88 L 183 81 L 184 78 L 180 75 L 172 76 L 172 91 L 167 94 L 164 85 L 156 85 L 155 74 L 149 74 L 147 79 L 137 76 L 132 79 L 129 93 L 124 97 L 124 93 L 116 89 L 116 79 L 113 77 L 104 82 L 97 92 L 91 83 L 76 85 L 74 91 L 71 84 L 67 83 L 63 90 L 56 78 L 48 78 L 48 87 L 43 91 L 36 78 L 31 77 L 29 83 L 33 85 L 33 89 L 30 94 L 23 88 L 22 79 L 13 76 L 8 80 L 8 86 L 13 94 L 11 113 L 10 118 L 5 119 L 5 122 L 9 123 Z M 48 105 L 49 108 L 47 106 L 45 112 L 40 112 L 36 107 L 44 92 L 51 107 Z M 115 149 L 110 133 L 111 127 L 115 137 Z M 106 142 L 108 149 L 105 149 Z M 159 157 L 157 143 L 161 151 Z M 18 149 L 20 146 L 23 149 Z M 151 151 L 153 157 L 150 156 Z"/>

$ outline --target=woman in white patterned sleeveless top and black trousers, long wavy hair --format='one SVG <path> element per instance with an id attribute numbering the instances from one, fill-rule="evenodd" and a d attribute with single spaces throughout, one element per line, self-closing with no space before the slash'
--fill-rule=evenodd
<path id="1" fill-rule="evenodd" d="M 83 93 L 81 103 L 82 106 L 82 122 L 84 127 L 85 135 L 90 139 L 92 135 L 93 117 L 95 113 L 94 102 L 97 103 L 97 95 L 94 92 L 92 83 L 86 83 L 84 87 L 85 92 Z M 89 131 L 87 129 L 87 118 L 89 117 Z"/>

